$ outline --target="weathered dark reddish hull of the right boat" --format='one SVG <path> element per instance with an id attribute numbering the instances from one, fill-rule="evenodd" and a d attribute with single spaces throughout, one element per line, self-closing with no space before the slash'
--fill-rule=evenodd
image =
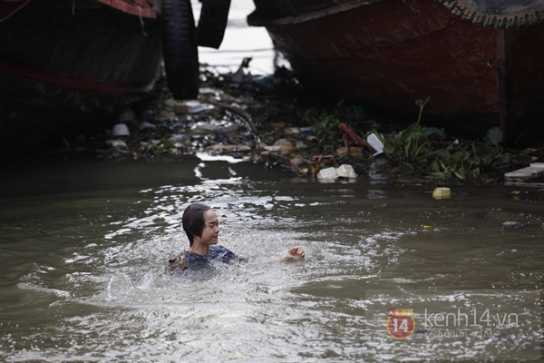
<path id="1" fill-rule="evenodd" d="M 450 123 L 477 116 L 510 137 L 521 116 L 544 111 L 542 24 L 474 25 L 436 0 L 298 7 L 283 20 L 259 18 L 256 3 L 250 24 L 266 25 L 301 80 L 336 98 L 413 115 L 414 100 L 431 97 L 425 113 Z"/>

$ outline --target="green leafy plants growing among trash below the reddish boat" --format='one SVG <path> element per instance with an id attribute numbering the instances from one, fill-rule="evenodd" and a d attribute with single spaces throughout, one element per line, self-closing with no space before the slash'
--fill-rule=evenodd
<path id="1" fill-rule="evenodd" d="M 442 129 L 423 125 L 423 109 L 428 102 L 429 98 L 417 100 L 417 121 L 384 138 L 384 154 L 393 161 L 393 168 L 403 174 L 404 178 L 425 178 L 443 182 L 492 182 L 493 173 L 503 173 L 508 167 L 525 166 L 530 162 L 529 155 L 505 152 L 500 146 L 502 131 L 498 127 L 489 129 L 482 141 L 446 141 L 446 133 Z M 299 116 L 306 124 L 312 125 L 316 134 L 316 146 L 319 150 L 314 152 L 327 150 L 335 153 L 341 140 L 338 125 L 348 123 L 344 103 L 338 103 L 330 113 L 306 109 Z M 375 130 L 371 132 L 378 134 Z M 342 155 L 338 159 L 346 156 Z M 364 156 L 349 157 L 354 161 L 368 161 Z"/>

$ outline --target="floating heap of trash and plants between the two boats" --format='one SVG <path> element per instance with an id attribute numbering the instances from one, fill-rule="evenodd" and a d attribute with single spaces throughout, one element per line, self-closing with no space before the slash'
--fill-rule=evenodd
<path id="1" fill-rule="evenodd" d="M 127 105 L 107 130 L 67 144 L 108 160 L 226 154 L 322 181 L 497 182 L 544 155 L 544 147 L 505 150 L 498 128 L 481 141 L 448 140 L 444 130 L 423 125 L 429 99 L 416 101 L 418 120 L 398 132 L 359 105 L 301 106 L 285 69 L 254 76 L 247 66 L 245 59 L 235 73 L 204 69 L 197 100 L 174 100 L 160 83 L 154 99 Z"/>

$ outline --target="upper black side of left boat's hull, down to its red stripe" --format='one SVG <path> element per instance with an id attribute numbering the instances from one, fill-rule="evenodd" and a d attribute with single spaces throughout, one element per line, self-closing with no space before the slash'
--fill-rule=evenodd
<path id="1" fill-rule="evenodd" d="M 109 95 L 151 89 L 162 60 L 159 21 L 85 4 L 31 1 L 1 22 L 0 71 Z"/>

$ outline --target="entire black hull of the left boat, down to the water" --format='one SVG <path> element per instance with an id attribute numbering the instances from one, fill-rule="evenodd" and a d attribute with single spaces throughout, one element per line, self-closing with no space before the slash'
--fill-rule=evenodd
<path id="1" fill-rule="evenodd" d="M 160 75 L 160 19 L 92 0 L 31 0 L 3 19 L 0 158 L 111 127 Z"/>

